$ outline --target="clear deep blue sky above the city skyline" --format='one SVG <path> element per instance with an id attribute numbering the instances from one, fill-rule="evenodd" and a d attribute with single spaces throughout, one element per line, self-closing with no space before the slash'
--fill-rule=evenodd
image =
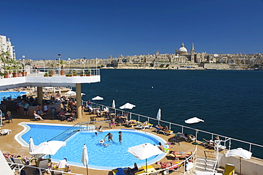
<path id="1" fill-rule="evenodd" d="M 1 1 L 0 25 L 17 59 L 263 53 L 263 0 Z"/>

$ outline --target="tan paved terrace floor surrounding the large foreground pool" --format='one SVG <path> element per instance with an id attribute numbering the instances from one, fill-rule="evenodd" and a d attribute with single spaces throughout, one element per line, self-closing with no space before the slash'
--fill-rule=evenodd
<path id="1" fill-rule="evenodd" d="M 31 157 L 31 155 L 28 152 L 28 147 L 22 147 L 20 144 L 18 144 L 18 142 L 16 142 L 16 140 L 14 139 L 15 135 L 18 134 L 19 132 L 21 132 L 23 130 L 23 127 L 18 125 L 21 122 L 38 122 L 38 123 L 57 123 L 57 124 L 76 124 L 77 122 L 87 122 L 90 121 L 90 117 L 94 117 L 95 115 L 90 115 L 87 113 L 84 113 L 82 119 L 79 119 L 75 122 L 60 122 L 60 120 L 50 120 L 48 119 L 48 116 L 45 117 L 45 121 L 41 122 L 41 121 L 33 121 L 33 118 L 25 118 L 24 116 L 16 116 L 15 114 L 16 112 L 12 112 L 13 114 L 13 122 L 11 123 L 6 123 L 3 127 L 1 127 L 1 129 L 11 129 L 12 132 L 10 132 L 9 135 L 5 135 L 5 136 L 0 136 L 0 149 L 1 152 L 3 153 L 10 153 L 10 154 L 24 154 L 27 157 Z M 50 118 L 50 116 L 49 116 Z M 100 118 L 99 118 L 100 119 Z M 98 120 L 99 120 L 98 119 Z M 101 118 L 102 120 L 102 118 Z M 121 129 L 124 128 L 122 126 L 117 126 L 115 127 L 115 129 Z M 104 132 L 106 132 L 106 129 L 104 129 Z M 144 129 L 144 132 L 151 132 L 152 134 L 156 134 L 156 132 L 154 132 L 154 129 Z M 176 131 L 175 131 L 176 132 Z M 156 134 L 159 137 L 162 137 L 163 139 L 166 140 L 166 142 L 168 142 L 168 139 L 173 137 L 172 135 L 168 135 L 165 136 L 163 134 Z M 194 151 L 195 146 L 193 144 L 190 144 L 188 142 L 180 142 L 180 145 L 175 144 L 175 145 L 170 145 L 170 150 L 175 150 L 175 151 Z M 197 155 L 198 157 L 205 157 L 205 154 L 208 157 L 214 157 L 213 154 L 213 150 L 210 149 L 204 149 L 204 147 L 199 146 L 198 145 L 198 152 Z M 223 151 L 224 152 L 224 151 Z M 66 157 L 67 155 L 65 155 Z M 163 158 L 161 161 L 171 161 L 171 157 L 165 157 Z M 132 162 L 133 164 L 134 162 Z M 154 168 L 159 169 L 159 165 L 156 164 L 152 164 L 152 166 L 154 166 Z M 80 168 L 77 166 L 70 166 L 71 172 L 73 173 L 77 173 L 77 174 L 86 174 L 86 169 L 85 168 Z M 34 169 L 26 169 L 27 173 L 26 174 L 32 174 Z M 16 174 L 18 174 L 18 172 L 16 172 Z M 96 174 L 96 175 L 104 175 L 104 174 L 112 174 L 112 171 L 98 171 L 98 170 L 94 170 L 94 169 L 89 169 L 89 174 Z M 181 167 L 179 169 L 179 171 L 174 171 L 172 174 L 183 174 L 183 167 Z"/>

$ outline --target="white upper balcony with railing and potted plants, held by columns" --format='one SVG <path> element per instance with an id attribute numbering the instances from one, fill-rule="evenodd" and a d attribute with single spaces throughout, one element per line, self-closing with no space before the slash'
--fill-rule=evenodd
<path id="1" fill-rule="evenodd" d="M 64 72 L 65 71 L 65 72 Z M 6 70 L 1 76 L 0 90 L 27 86 L 62 86 L 75 87 L 76 83 L 100 82 L 99 69 L 28 69 L 27 75 L 22 75 L 21 70 Z M 1 71 L 4 74 L 4 70 Z"/>

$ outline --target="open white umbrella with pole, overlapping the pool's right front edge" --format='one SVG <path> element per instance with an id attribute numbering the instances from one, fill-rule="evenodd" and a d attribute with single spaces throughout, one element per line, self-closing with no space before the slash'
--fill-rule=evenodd
<path id="1" fill-rule="evenodd" d="M 140 160 L 146 159 L 146 172 L 147 172 L 147 159 L 155 155 L 163 154 L 161 149 L 150 143 L 139 144 L 134 147 L 129 147 L 128 152 L 131 153 L 137 159 Z"/>

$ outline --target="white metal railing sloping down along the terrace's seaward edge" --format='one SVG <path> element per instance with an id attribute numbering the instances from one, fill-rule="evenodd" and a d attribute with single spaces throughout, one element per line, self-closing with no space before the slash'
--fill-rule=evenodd
<path id="1" fill-rule="evenodd" d="M 98 104 L 98 103 L 95 103 L 95 102 L 91 102 L 92 106 L 93 107 L 98 107 L 98 106 L 101 106 L 101 109 L 103 109 L 104 106 L 107 106 L 107 105 L 101 105 L 101 104 Z M 87 102 L 86 101 L 82 101 L 82 105 L 87 105 Z M 195 133 L 195 138 L 198 139 L 198 137 L 209 137 L 210 135 L 210 138 L 213 139 L 215 136 L 218 136 L 220 138 L 222 138 L 222 142 L 224 143 L 223 146 L 225 146 L 225 148 L 227 149 L 231 149 L 231 147 L 245 147 L 244 149 L 247 149 L 249 150 L 249 152 L 252 152 L 252 147 L 253 147 L 253 156 L 254 157 L 258 157 L 258 158 L 261 158 L 263 159 L 262 155 L 263 155 L 263 145 L 260 145 L 260 144 L 254 144 L 252 142 L 246 142 L 246 141 L 243 141 L 243 140 L 240 140 L 240 139 L 235 139 L 235 138 L 232 138 L 232 137 L 227 137 L 227 136 L 224 136 L 224 135 L 221 135 L 221 134 L 215 134 L 213 132 L 207 132 L 207 131 L 203 131 L 203 130 L 200 130 L 200 129 L 196 129 L 196 128 L 192 128 L 192 127 L 186 127 L 186 126 L 183 126 L 181 124 L 176 124 L 176 123 L 173 123 L 173 122 L 167 122 L 167 121 L 164 121 L 164 120 L 157 120 L 156 118 L 153 118 L 153 117 L 148 117 L 148 116 L 145 116 L 145 115 L 139 115 L 139 114 L 136 114 L 136 113 L 133 113 L 133 112 L 127 112 L 127 111 L 124 111 L 124 110 L 119 110 L 119 109 L 116 109 L 116 108 L 112 108 L 112 107 L 108 107 L 109 110 L 113 113 L 115 113 L 117 115 L 117 113 L 119 112 L 121 115 L 124 115 L 124 114 L 127 114 L 127 119 L 128 120 L 138 120 L 138 121 L 142 121 L 142 120 L 146 120 L 147 122 L 151 123 L 151 124 L 158 124 L 160 122 L 161 125 L 167 125 L 168 128 L 170 130 L 178 130 L 180 131 L 181 133 L 188 133 L 188 132 L 194 132 Z M 174 132 L 175 133 L 175 132 Z M 214 139 L 213 139 L 214 140 Z M 232 146 L 234 145 L 234 146 Z"/>

